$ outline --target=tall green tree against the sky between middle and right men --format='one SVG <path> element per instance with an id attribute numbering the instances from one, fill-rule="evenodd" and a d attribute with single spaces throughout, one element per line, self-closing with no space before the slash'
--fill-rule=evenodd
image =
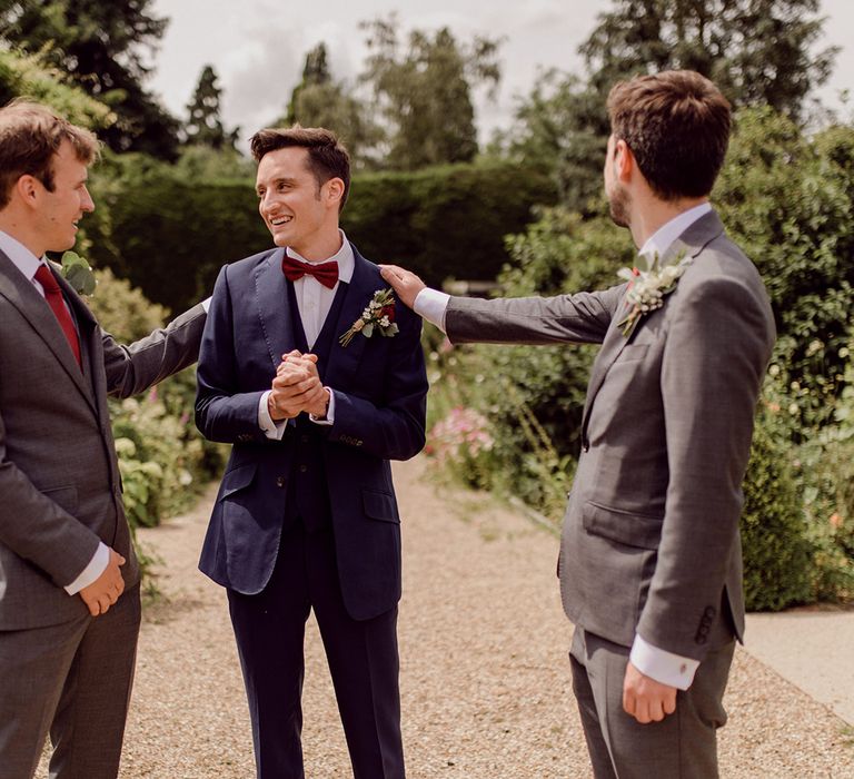
<path id="1" fill-rule="evenodd" d="M 470 161 L 478 149 L 471 88 L 497 87 L 498 41 L 476 37 L 460 45 L 446 27 L 434 34 L 413 30 L 401 52 L 394 16 L 361 27 L 369 51 L 361 80 L 386 120 L 388 166 L 414 170 Z"/>

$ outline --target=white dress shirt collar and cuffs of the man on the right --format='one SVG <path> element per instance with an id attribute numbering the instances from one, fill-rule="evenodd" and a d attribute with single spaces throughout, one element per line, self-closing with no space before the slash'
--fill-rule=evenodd
<path id="1" fill-rule="evenodd" d="M 694 208 L 683 211 L 678 216 L 662 225 L 643 245 L 639 254 L 664 255 L 671 245 L 697 219 L 712 210 L 709 203 L 702 203 Z M 413 308 L 416 314 L 436 325 L 445 333 L 445 313 L 448 307 L 449 295 L 429 287 L 421 289 L 415 298 Z M 629 655 L 632 664 L 640 673 L 655 679 L 662 684 L 669 684 L 679 690 L 687 690 L 694 681 L 699 662 L 692 658 L 684 658 L 664 649 L 653 647 L 639 635 L 635 634 Z"/>

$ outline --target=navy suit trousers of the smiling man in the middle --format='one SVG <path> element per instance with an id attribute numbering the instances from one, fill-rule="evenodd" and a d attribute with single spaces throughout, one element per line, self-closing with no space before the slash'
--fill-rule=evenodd
<path id="1" fill-rule="evenodd" d="M 282 532 L 276 569 L 257 595 L 228 590 L 259 779 L 302 779 L 302 644 L 315 611 L 354 779 L 403 779 L 397 607 L 354 620 L 344 607 L 331 527 Z"/>

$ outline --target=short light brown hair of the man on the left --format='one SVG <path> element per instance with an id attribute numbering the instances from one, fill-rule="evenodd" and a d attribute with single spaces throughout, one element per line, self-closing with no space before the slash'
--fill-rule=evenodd
<path id="1" fill-rule="evenodd" d="M 0 108 L 0 208 L 6 208 L 21 176 L 32 176 L 53 191 L 53 155 L 69 141 L 77 158 L 90 165 L 98 139 L 38 102 L 16 98 Z"/>

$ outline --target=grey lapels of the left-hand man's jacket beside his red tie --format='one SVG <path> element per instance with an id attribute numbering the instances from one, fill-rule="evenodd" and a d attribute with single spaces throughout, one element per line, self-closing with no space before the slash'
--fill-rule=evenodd
<path id="1" fill-rule="evenodd" d="M 33 332 L 41 338 L 44 346 L 50 349 L 57 363 L 69 375 L 75 386 L 97 414 L 98 410 L 95 405 L 91 388 L 88 386 L 86 377 L 68 346 L 66 335 L 50 306 L 2 252 L 0 252 L 0 270 L 2 270 L 0 273 L 0 295 L 6 297 L 20 312 L 21 316 L 30 323 Z M 67 299 L 71 302 L 75 313 L 78 309 L 86 310 L 86 306 L 66 283 L 66 279 L 59 274 L 54 273 L 53 275 L 66 293 Z M 88 314 L 88 312 L 86 318 L 93 322 L 91 314 Z M 81 339 L 83 338 L 83 333 L 80 333 L 80 337 Z"/>

